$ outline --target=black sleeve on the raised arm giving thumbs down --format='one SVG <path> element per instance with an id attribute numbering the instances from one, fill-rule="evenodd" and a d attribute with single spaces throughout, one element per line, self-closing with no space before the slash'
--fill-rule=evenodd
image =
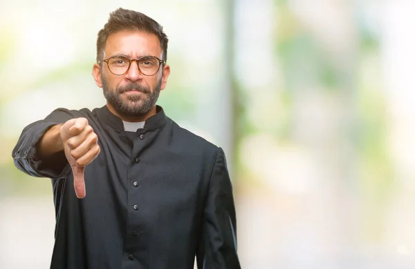
<path id="1" fill-rule="evenodd" d="M 58 108 L 43 120 L 30 123 L 21 132 L 17 145 L 12 151 L 15 166 L 28 175 L 34 177 L 49 177 L 56 179 L 70 172 L 71 167 L 64 155 L 64 151 L 57 152 L 47 159 L 37 157 L 37 143 L 42 139 L 47 130 L 69 119 L 83 117 L 77 110 Z"/>

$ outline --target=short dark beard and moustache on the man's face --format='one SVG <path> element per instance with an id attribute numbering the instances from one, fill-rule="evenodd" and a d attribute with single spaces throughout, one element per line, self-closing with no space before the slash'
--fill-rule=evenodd
<path id="1" fill-rule="evenodd" d="M 151 108 L 156 105 L 158 96 L 160 94 L 161 81 L 158 81 L 157 85 L 151 91 L 149 87 L 141 86 L 138 83 L 129 83 L 127 86 L 122 86 L 113 90 L 109 88 L 107 80 L 104 77 L 102 79 L 102 91 L 107 102 L 122 116 L 126 117 L 141 117 L 147 114 Z M 136 90 L 142 92 L 140 95 L 133 95 L 127 97 L 128 101 L 124 101 L 121 97 L 123 92 L 129 90 Z"/>

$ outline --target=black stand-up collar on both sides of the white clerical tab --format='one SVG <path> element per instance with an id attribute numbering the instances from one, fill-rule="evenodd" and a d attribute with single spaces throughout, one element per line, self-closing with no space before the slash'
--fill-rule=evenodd
<path id="1" fill-rule="evenodd" d="M 124 130 L 124 123 L 122 122 L 122 119 L 120 119 L 111 111 L 109 111 L 107 106 L 103 106 L 102 108 L 95 108 L 95 110 L 97 111 L 100 120 L 104 123 L 107 123 L 108 126 L 111 126 L 111 128 L 114 128 L 118 131 Z M 166 121 L 167 117 L 165 115 L 163 108 L 161 106 L 156 106 L 156 114 L 154 116 L 149 117 L 145 121 L 143 128 L 145 130 L 157 129 L 163 126 L 166 123 Z"/>

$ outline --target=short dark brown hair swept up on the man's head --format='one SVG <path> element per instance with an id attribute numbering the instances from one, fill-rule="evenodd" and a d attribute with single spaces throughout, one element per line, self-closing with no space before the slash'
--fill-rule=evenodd
<path id="1" fill-rule="evenodd" d="M 98 32 L 97 62 L 102 60 L 105 43 L 107 43 L 109 35 L 122 30 L 138 30 L 156 34 L 160 41 L 161 50 L 163 50 L 162 58 L 164 61 L 167 61 L 167 43 L 169 42 L 169 39 L 165 32 L 163 32 L 163 27 L 146 14 L 118 8 L 109 13 L 108 22 L 105 23 L 104 28 Z"/>

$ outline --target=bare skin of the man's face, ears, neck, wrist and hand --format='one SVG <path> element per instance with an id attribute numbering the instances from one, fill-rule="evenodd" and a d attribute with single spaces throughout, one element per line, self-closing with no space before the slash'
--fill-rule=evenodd
<path id="1" fill-rule="evenodd" d="M 129 59 L 138 59 L 142 56 L 155 56 L 163 59 L 163 51 L 160 48 L 158 37 L 155 34 L 142 31 L 120 31 L 110 34 L 104 49 L 104 59 L 116 54 L 124 54 Z M 117 89 L 136 83 L 154 92 L 158 83 L 160 83 L 160 90 L 165 88 L 170 67 L 168 65 L 160 67 L 154 76 L 148 77 L 139 72 L 136 61 L 133 61 L 126 74 L 116 76 L 109 71 L 107 63 L 103 63 L 102 66 L 95 63 L 92 74 L 98 87 L 103 88 L 103 79 L 106 81 L 107 89 L 104 90 L 117 93 Z M 147 93 L 131 90 L 122 92 L 120 98 L 128 106 L 140 106 L 142 101 L 147 98 Z M 129 122 L 145 121 L 156 114 L 155 103 L 149 111 L 142 114 L 122 114 L 108 101 L 107 108 L 123 121 Z M 75 193 L 78 198 L 84 198 L 86 195 L 84 168 L 100 153 L 98 136 L 89 126 L 87 119 L 71 119 L 64 124 L 53 126 L 37 146 L 38 155 L 41 158 L 50 157 L 55 152 L 62 150 L 64 150 L 73 171 Z"/>

